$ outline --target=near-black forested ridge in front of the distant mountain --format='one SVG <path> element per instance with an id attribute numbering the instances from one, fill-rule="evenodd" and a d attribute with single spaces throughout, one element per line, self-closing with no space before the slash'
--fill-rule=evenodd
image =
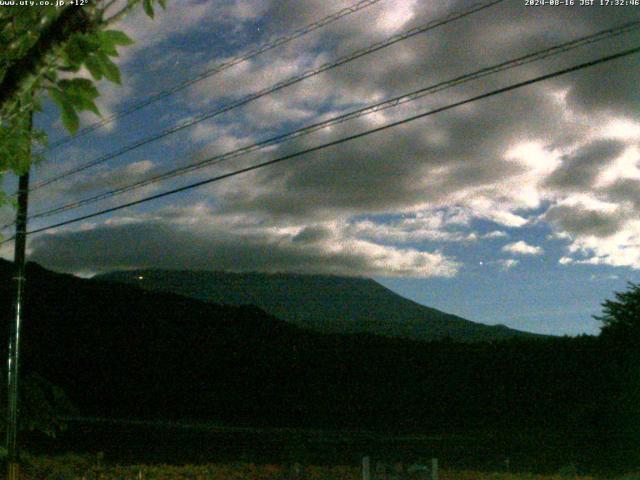
<path id="1" fill-rule="evenodd" d="M 0 260 L 5 332 L 12 270 Z M 387 292 L 364 280 L 297 278 L 299 291 L 305 281 L 328 283 L 342 299 L 357 298 L 356 288 L 360 295 Z M 318 285 L 317 298 L 332 295 Z M 405 302 L 386 298 L 399 303 L 385 311 Z M 309 305 L 316 305 L 312 298 Z M 61 386 L 84 416 L 448 434 L 553 425 L 584 441 L 592 418 L 608 428 L 602 402 L 619 398 L 610 380 L 616 349 L 601 352 L 597 338 L 425 343 L 320 334 L 255 306 L 81 279 L 35 264 L 27 268 L 21 339 L 22 374 Z"/>

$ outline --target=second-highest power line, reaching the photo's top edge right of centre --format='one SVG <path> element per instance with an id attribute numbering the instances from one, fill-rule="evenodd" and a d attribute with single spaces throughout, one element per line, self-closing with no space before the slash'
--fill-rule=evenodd
<path id="1" fill-rule="evenodd" d="M 191 117 L 190 119 L 187 119 L 181 123 L 178 123 L 176 125 L 173 125 L 172 127 L 166 128 L 164 130 L 162 130 L 159 133 L 153 134 L 149 137 L 143 138 L 141 140 L 137 140 L 136 142 L 133 142 L 129 145 L 126 145 L 125 147 L 116 150 L 115 152 L 112 153 L 108 153 L 106 155 L 103 155 L 101 157 L 98 157 L 94 160 L 91 160 L 83 165 L 80 165 L 78 167 L 74 167 L 71 168 L 55 177 L 49 178 L 49 179 L 45 179 L 42 180 L 36 184 L 33 185 L 33 187 L 31 188 L 31 190 L 37 190 L 39 188 L 42 188 L 46 185 L 49 185 L 51 183 L 60 181 L 64 178 L 67 178 L 71 175 L 74 175 L 76 173 L 82 172 L 84 170 L 87 170 L 91 167 L 94 167 L 96 165 L 99 165 L 101 163 L 104 163 L 108 160 L 111 160 L 113 158 L 119 157 L 121 155 L 124 155 L 125 153 L 128 153 L 132 150 L 135 150 L 136 148 L 142 147 L 143 145 L 147 145 L 151 142 L 154 142 L 156 140 L 160 140 L 168 135 L 171 135 L 173 133 L 179 132 L 185 128 L 191 127 L 193 125 L 196 125 L 197 123 L 200 123 L 204 120 L 209 120 L 213 117 L 216 117 L 222 113 L 228 112 L 230 110 L 233 110 L 235 108 L 241 107 L 243 105 L 246 105 L 254 100 L 257 100 L 261 97 L 264 97 L 266 95 L 270 95 L 272 93 L 275 93 L 279 90 L 282 90 L 283 88 L 289 87 L 291 85 L 294 85 L 296 83 L 299 83 L 303 80 L 306 80 L 307 78 L 311 78 L 314 77 L 316 75 L 319 75 L 323 72 L 326 72 L 328 70 L 337 68 L 341 65 L 344 65 L 346 63 L 352 62 L 353 60 L 356 60 L 360 57 L 363 57 L 365 55 L 369 55 L 371 53 L 377 52 L 378 50 L 382 50 L 383 48 L 389 47 L 391 45 L 394 45 L 398 42 L 407 40 L 411 37 L 414 37 L 416 35 L 419 35 L 421 33 L 425 33 L 429 30 L 432 30 L 434 28 L 437 28 L 439 26 L 442 25 L 446 25 L 448 23 L 454 22 L 456 20 L 459 20 L 461 18 L 467 17 L 469 15 L 472 15 L 476 12 L 479 12 L 481 10 L 484 10 L 486 8 L 489 8 L 493 5 L 496 5 L 498 3 L 502 3 L 504 0 L 491 0 L 489 2 L 486 3 L 482 3 L 482 4 L 474 4 L 471 8 L 464 10 L 462 12 L 454 12 L 454 13 L 450 13 L 449 15 L 447 15 L 446 17 L 439 19 L 439 20 L 433 20 L 430 21 L 426 24 L 422 24 L 419 25 L 417 27 L 411 28 L 407 31 L 405 31 L 404 33 L 401 34 L 397 34 L 397 35 L 392 35 L 391 37 L 388 37 L 387 39 L 374 43 L 372 45 L 369 45 L 368 47 L 362 48 L 362 49 L 358 49 L 355 50 L 354 52 L 345 55 L 343 57 L 340 57 L 338 60 L 333 61 L 331 63 L 325 63 L 323 65 L 321 65 L 320 67 L 314 68 L 312 70 L 307 70 L 306 72 L 303 72 L 302 74 L 299 75 L 295 75 L 293 77 L 290 77 L 286 80 L 280 81 L 270 87 L 264 88 L 256 93 L 252 93 L 240 100 L 237 100 L 235 102 L 232 102 L 230 104 L 224 105 L 220 108 L 217 108 L 215 110 L 209 111 L 209 112 L 205 112 L 202 113 L 200 115 L 196 115 L 194 117 Z"/>

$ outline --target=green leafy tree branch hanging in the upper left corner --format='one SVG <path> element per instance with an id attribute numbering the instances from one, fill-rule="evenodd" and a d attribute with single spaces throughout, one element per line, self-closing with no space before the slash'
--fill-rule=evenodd
<path id="1" fill-rule="evenodd" d="M 99 115 L 96 82 L 104 78 L 120 83 L 113 59 L 119 47 L 133 43 L 110 25 L 138 5 L 153 16 L 154 5 L 164 8 L 165 2 L 126 0 L 119 10 L 114 10 L 119 2 L 112 0 L 0 9 L 0 175 L 25 172 L 32 142 L 45 143 L 44 133 L 32 133 L 29 120 L 30 112 L 41 109 L 44 96 L 57 104 L 72 134 L 79 128 L 80 112 Z"/>

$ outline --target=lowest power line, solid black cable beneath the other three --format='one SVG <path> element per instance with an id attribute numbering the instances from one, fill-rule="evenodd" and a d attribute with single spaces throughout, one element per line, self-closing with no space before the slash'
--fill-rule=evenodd
<path id="1" fill-rule="evenodd" d="M 612 55 L 608 55 L 606 57 L 601 57 L 601 58 L 598 58 L 596 60 L 592 60 L 592 61 L 589 61 L 589 62 L 584 62 L 584 63 L 578 64 L 578 65 L 574 65 L 573 67 L 565 68 L 565 69 L 562 69 L 562 70 L 557 70 L 555 72 L 548 73 L 548 74 L 545 74 L 545 75 L 541 75 L 541 76 L 538 76 L 538 77 L 535 77 L 535 78 L 532 78 L 532 79 L 529 79 L 529 80 L 525 80 L 523 82 L 515 83 L 515 84 L 509 85 L 507 87 L 498 88 L 496 90 L 492 90 L 490 92 L 483 93 L 481 95 L 476 95 L 474 97 L 467 98 L 466 100 L 461 100 L 459 102 L 451 103 L 451 104 L 446 105 L 444 107 L 439 107 L 439 108 L 436 108 L 436 109 L 433 109 L 433 110 L 429 110 L 429 111 L 426 111 L 426 112 L 423 112 L 423 113 L 419 113 L 417 115 L 413 115 L 411 117 L 407 117 L 407 118 L 404 118 L 402 120 L 398 120 L 396 122 L 388 123 L 388 124 L 383 125 L 381 127 L 377 127 L 377 128 L 374 128 L 374 129 L 371 129 L 371 130 L 367 130 L 365 132 L 357 133 L 357 134 L 354 134 L 354 135 L 350 135 L 350 136 L 347 136 L 347 137 L 343 137 L 341 139 L 334 140 L 334 141 L 331 141 L 331 142 L 327 142 L 327 143 L 324 143 L 322 145 L 317 145 L 315 147 L 311 147 L 311 148 L 307 148 L 307 149 L 304 149 L 304 150 L 300 150 L 298 152 L 294 152 L 294 153 L 291 153 L 291 154 L 288 154 L 288 155 L 284 155 L 282 157 L 278 157 L 278 158 L 275 158 L 273 160 L 268 160 L 268 161 L 265 161 L 265 162 L 262 162 L 262 163 L 258 163 L 256 165 L 252 165 L 250 167 L 245 167 L 245 168 L 241 168 L 241 169 L 235 170 L 233 172 L 217 175 L 215 177 L 211 177 L 211 178 L 208 178 L 206 180 L 201 180 L 201 181 L 198 181 L 198 182 L 191 183 L 189 185 L 185 185 L 183 187 L 179 187 L 179 188 L 175 188 L 175 189 L 172 189 L 172 190 L 168 190 L 166 192 L 162 192 L 162 193 L 158 193 L 158 194 L 155 194 L 155 195 L 151 195 L 151 196 L 142 198 L 140 200 L 135 200 L 135 201 L 132 201 L 132 202 L 124 203 L 124 204 L 118 205 L 116 207 L 106 208 L 104 210 L 100 210 L 98 212 L 90 213 L 88 215 L 83 215 L 83 216 L 80 216 L 80 217 L 72 218 L 70 220 L 65 220 L 63 222 L 58 222 L 58 223 L 53 224 L 53 225 L 48 225 L 46 227 L 41 227 L 41 228 L 37 228 L 35 230 L 30 230 L 29 232 L 27 232 L 27 234 L 28 235 L 33 235 L 33 234 L 36 234 L 36 233 L 45 232 L 45 231 L 48 231 L 48 230 L 52 230 L 54 228 L 62 227 L 62 226 L 65 226 L 65 225 L 70 225 L 72 223 L 77 223 L 77 222 L 80 222 L 82 220 L 87 220 L 89 218 L 94 218 L 94 217 L 97 217 L 97 216 L 100 216 L 100 215 L 104 215 L 104 214 L 107 214 L 107 213 L 112 213 L 112 212 L 115 212 L 115 211 L 118 211 L 118 210 L 122 210 L 124 208 L 132 207 L 132 206 L 135 206 L 135 205 L 140 205 L 142 203 L 150 202 L 152 200 L 157 200 L 159 198 L 167 197 L 169 195 L 173 195 L 173 194 L 176 194 L 176 193 L 184 192 L 184 191 L 187 191 L 187 190 L 192 190 L 194 188 L 198 188 L 198 187 L 201 187 L 203 185 L 208 185 L 208 184 L 211 184 L 211 183 L 214 183 L 214 182 L 218 182 L 218 181 L 221 181 L 221 180 L 224 180 L 224 179 L 227 179 L 227 178 L 235 177 L 235 176 L 240 175 L 242 173 L 250 172 L 250 171 L 253 171 L 253 170 L 258 170 L 260 168 L 267 167 L 269 165 L 274 165 L 276 163 L 281 163 L 281 162 L 284 162 L 286 160 L 299 158 L 299 157 L 301 157 L 303 155 L 307 155 L 309 153 L 313 153 L 313 152 L 317 152 L 317 151 L 320 151 L 320 150 L 324 150 L 325 148 L 328 148 L 328 147 L 333 147 L 333 146 L 340 145 L 340 144 L 345 143 L 345 142 L 349 142 L 349 141 L 352 141 L 352 140 L 355 140 L 355 139 L 358 139 L 358 138 L 362 138 L 362 137 L 366 137 L 366 136 L 372 135 L 374 133 L 382 132 L 384 130 L 388 130 L 388 129 L 393 128 L 393 127 L 397 127 L 397 126 L 400 126 L 400 125 L 403 125 L 403 124 L 406 124 L 406 123 L 409 123 L 409 122 L 413 122 L 413 121 L 418 120 L 420 118 L 424 118 L 424 117 L 427 117 L 427 116 L 430 116 L 430 115 L 435 115 L 437 113 L 444 112 L 444 111 L 447 111 L 447 110 L 451 110 L 453 108 L 457 108 L 457 107 L 460 107 L 462 105 L 466 105 L 466 104 L 469 104 L 469 103 L 472 103 L 472 102 L 476 102 L 478 100 L 482 100 L 482 99 L 485 99 L 485 98 L 489 98 L 489 97 L 493 97 L 493 96 L 496 96 L 496 95 L 500 95 L 502 93 L 509 92 L 509 91 L 512 91 L 512 90 L 516 90 L 518 88 L 522 88 L 522 87 L 525 87 L 525 86 L 528 86 L 528 85 L 532 85 L 534 83 L 538 83 L 538 82 L 541 82 L 541 81 L 544 81 L 544 80 L 548 80 L 550 78 L 559 77 L 559 76 L 565 75 L 567 73 L 571 73 L 571 72 L 575 72 L 575 71 L 578 71 L 578 70 L 582 70 L 584 68 L 588 68 L 588 67 L 592 67 L 592 66 L 595 66 L 595 65 L 599 65 L 599 64 L 602 64 L 602 63 L 605 63 L 605 62 L 610 62 L 610 61 L 615 60 L 615 59 L 627 57 L 629 55 L 633 55 L 633 54 L 638 53 L 638 52 L 640 52 L 640 46 L 639 47 L 635 47 L 635 48 L 631 48 L 631 49 L 627 49 L 627 50 L 624 50 L 624 51 L 621 51 L 621 52 L 618 52 L 618 53 L 615 53 L 615 54 L 612 54 Z M 10 240 L 13 240 L 13 237 L 0 242 L 0 245 L 2 245 L 3 243 L 8 242 Z"/>

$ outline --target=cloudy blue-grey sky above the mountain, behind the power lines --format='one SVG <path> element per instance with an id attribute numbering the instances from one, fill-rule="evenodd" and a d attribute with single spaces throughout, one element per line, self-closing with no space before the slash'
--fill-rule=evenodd
<path id="1" fill-rule="evenodd" d="M 118 28 L 136 44 L 104 115 L 355 2 L 174 0 Z M 52 183 L 39 212 L 600 30 L 640 6 L 505 0 Z M 599 0 L 597 1 L 599 3 Z M 37 182 L 214 111 L 471 1 L 380 0 L 48 152 Z M 640 46 L 640 30 L 458 85 L 57 216 L 102 208 L 363 132 Z M 30 237 L 29 259 L 83 276 L 130 268 L 373 277 L 488 324 L 597 333 L 599 304 L 640 281 L 639 55 L 539 82 L 290 162 Z M 83 125 L 96 121 L 83 116 Z M 36 125 L 65 132 L 45 103 Z M 11 191 L 15 179 L 4 187 Z M 0 221 L 11 219 L 3 210 Z M 4 234 L 9 234 L 5 231 Z M 2 255 L 12 254 L 3 245 Z"/>

